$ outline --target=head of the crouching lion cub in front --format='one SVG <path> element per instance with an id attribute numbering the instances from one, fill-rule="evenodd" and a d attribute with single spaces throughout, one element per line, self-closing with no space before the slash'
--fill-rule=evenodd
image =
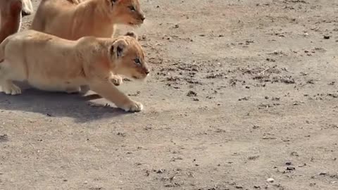
<path id="1" fill-rule="evenodd" d="M 110 48 L 114 72 L 134 80 L 143 80 L 150 70 L 144 61 L 142 46 L 137 42 L 134 32 L 127 32 L 113 42 Z"/>

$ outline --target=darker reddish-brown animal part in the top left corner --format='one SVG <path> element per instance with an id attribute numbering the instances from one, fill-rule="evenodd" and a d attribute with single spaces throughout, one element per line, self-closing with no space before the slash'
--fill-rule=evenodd
<path id="1" fill-rule="evenodd" d="M 0 43 L 21 26 L 21 0 L 0 0 Z"/>

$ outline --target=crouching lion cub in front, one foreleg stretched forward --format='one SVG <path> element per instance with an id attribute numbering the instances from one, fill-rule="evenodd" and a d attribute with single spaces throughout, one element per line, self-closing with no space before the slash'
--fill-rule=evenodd
<path id="1" fill-rule="evenodd" d="M 2 61 L 1 61 L 2 60 Z M 26 30 L 0 44 L 0 86 L 6 94 L 20 94 L 12 81 L 27 81 L 46 91 L 92 91 L 126 111 L 142 110 L 111 83 L 111 72 L 142 80 L 149 74 L 136 34 L 118 38 L 82 37 L 77 41 Z"/>

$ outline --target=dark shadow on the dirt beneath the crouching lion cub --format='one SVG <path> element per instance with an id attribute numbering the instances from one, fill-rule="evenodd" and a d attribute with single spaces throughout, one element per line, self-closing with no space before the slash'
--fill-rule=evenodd
<path id="1" fill-rule="evenodd" d="M 109 102 L 99 98 L 97 94 L 84 96 L 83 91 L 80 94 L 66 94 L 30 88 L 23 89 L 23 94 L 15 96 L 0 92 L 0 110 L 20 110 L 41 113 L 49 117 L 68 117 L 74 118 L 75 122 L 89 122 L 127 114 L 120 108 L 107 106 Z M 99 103 L 92 102 L 92 99 L 99 99 Z"/>

